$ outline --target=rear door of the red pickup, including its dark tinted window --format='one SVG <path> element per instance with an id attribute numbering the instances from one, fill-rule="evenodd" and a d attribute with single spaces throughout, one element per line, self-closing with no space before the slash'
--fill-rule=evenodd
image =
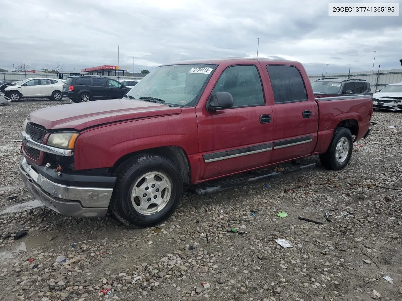
<path id="1" fill-rule="evenodd" d="M 310 155 L 317 141 L 318 108 L 308 99 L 299 69 L 291 65 L 267 65 L 274 104 L 271 163 Z M 308 79 L 306 79 L 308 80 Z"/>

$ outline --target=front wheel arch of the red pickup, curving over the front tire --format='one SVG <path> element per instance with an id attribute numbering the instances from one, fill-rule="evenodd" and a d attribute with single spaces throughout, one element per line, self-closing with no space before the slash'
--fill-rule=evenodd
<path id="1" fill-rule="evenodd" d="M 162 157 L 166 157 L 174 164 L 177 165 L 180 175 L 183 178 L 183 182 L 185 186 L 190 185 L 191 181 L 191 166 L 189 162 L 189 158 L 187 153 L 180 146 L 161 146 L 156 148 L 149 148 L 144 150 L 138 150 L 132 153 L 128 153 L 123 157 L 119 158 L 113 167 L 109 169 L 109 171 L 113 174 L 122 164 L 125 164 L 127 161 L 131 160 L 131 158 L 138 155 L 159 155 Z"/>

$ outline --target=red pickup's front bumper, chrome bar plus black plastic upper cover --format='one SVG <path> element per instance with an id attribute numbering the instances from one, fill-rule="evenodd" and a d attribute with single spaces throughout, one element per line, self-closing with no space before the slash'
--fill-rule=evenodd
<path id="1" fill-rule="evenodd" d="M 75 217 L 106 215 L 115 177 L 74 174 L 60 177 L 50 168 L 30 165 L 25 157 L 18 167 L 28 190 L 55 212 Z"/>

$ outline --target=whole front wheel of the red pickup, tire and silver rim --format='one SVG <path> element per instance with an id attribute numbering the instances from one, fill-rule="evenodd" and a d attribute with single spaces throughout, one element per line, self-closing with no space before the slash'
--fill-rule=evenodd
<path id="1" fill-rule="evenodd" d="M 111 210 L 126 226 L 150 227 L 169 218 L 180 203 L 183 179 L 172 161 L 157 155 L 133 158 L 115 172 Z"/>

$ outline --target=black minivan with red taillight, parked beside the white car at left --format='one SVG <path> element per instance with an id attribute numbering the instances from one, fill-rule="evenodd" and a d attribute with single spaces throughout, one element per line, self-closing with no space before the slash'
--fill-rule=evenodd
<path id="1" fill-rule="evenodd" d="M 115 79 L 100 76 L 71 76 L 63 85 L 62 96 L 73 102 L 123 98 L 131 89 Z"/>

